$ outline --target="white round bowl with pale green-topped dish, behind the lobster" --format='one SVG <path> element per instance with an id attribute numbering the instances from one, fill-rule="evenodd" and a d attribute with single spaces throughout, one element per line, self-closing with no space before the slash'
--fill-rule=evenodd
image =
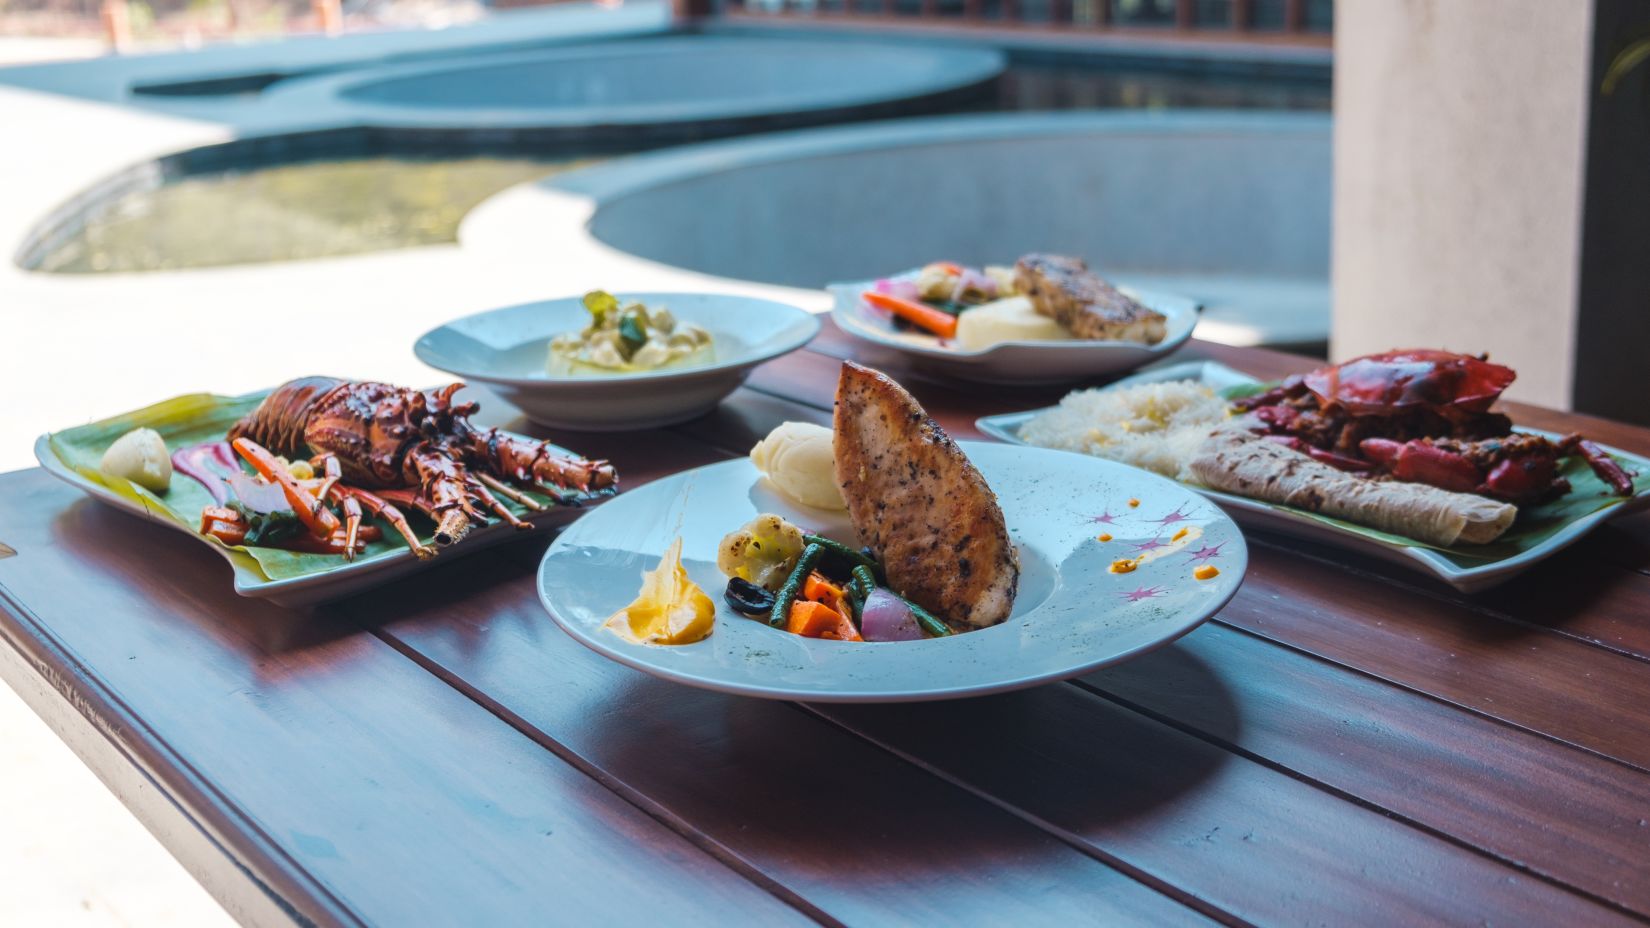
<path id="1" fill-rule="evenodd" d="M 807 310 L 756 297 L 615 296 L 642 301 L 650 309 L 667 307 L 678 320 L 703 327 L 714 340 L 714 358 L 644 373 L 553 375 L 546 370 L 549 340 L 589 324 L 582 297 L 465 315 L 426 332 L 412 352 L 434 368 L 488 385 L 535 423 L 624 431 L 681 423 L 711 411 L 744 383 L 751 368 L 807 345 L 820 329 L 818 319 Z"/>

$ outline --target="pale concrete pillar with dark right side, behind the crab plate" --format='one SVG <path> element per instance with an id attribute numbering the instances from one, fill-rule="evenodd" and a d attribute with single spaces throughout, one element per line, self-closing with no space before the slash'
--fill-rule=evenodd
<path id="1" fill-rule="evenodd" d="M 1335 5 L 1332 353 L 1650 424 L 1650 3 Z"/>

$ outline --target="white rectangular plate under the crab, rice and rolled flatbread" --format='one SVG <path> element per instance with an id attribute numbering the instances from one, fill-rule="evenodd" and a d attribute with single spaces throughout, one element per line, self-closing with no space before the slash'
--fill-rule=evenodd
<path id="1" fill-rule="evenodd" d="M 1183 365 L 1172 365 L 1157 370 L 1148 370 L 1119 380 L 1117 383 L 1107 386 L 1106 390 L 1115 390 L 1119 386 L 1132 386 L 1137 383 L 1163 383 L 1170 380 L 1195 380 L 1208 385 L 1213 390 L 1226 390 L 1229 386 L 1242 386 L 1257 383 L 1256 378 L 1239 373 L 1226 365 L 1214 362 L 1193 362 Z M 1046 410 L 1033 410 L 1030 413 L 1006 413 L 1002 416 L 985 416 L 975 424 L 985 434 L 1011 443 L 1026 446 L 1020 439 L 1020 426 L 1023 426 L 1033 416 Z M 1531 434 L 1543 434 L 1548 438 L 1558 438 L 1553 433 L 1543 433 L 1538 429 L 1520 429 Z M 1030 447 L 1030 446 L 1026 446 Z M 1625 457 L 1634 462 L 1640 472 L 1650 472 L 1650 459 L 1640 457 L 1637 454 L 1629 454 L 1615 447 L 1607 447 L 1610 454 Z M 1617 515 L 1625 515 L 1645 507 L 1650 507 L 1650 490 L 1640 492 L 1632 499 L 1625 499 L 1617 505 L 1600 509 L 1582 515 L 1556 532 L 1554 535 L 1543 540 L 1539 545 L 1497 560 L 1477 560 L 1477 558 L 1452 558 L 1444 552 L 1436 548 L 1427 548 L 1422 545 L 1399 545 L 1393 542 L 1384 542 L 1379 538 L 1371 538 L 1368 535 L 1358 535 L 1355 532 L 1346 532 L 1345 528 L 1323 522 L 1310 514 L 1289 509 L 1284 505 L 1275 505 L 1269 502 L 1261 502 L 1249 497 L 1239 497 L 1233 494 L 1223 494 L 1219 490 L 1211 490 L 1204 487 L 1195 487 L 1183 484 L 1188 489 L 1200 492 L 1214 502 L 1221 504 L 1233 518 L 1249 525 L 1252 528 L 1262 528 L 1270 532 L 1279 532 L 1282 535 L 1294 535 L 1297 538 L 1307 538 L 1313 542 L 1325 542 L 1330 545 L 1340 545 L 1365 555 L 1371 555 L 1391 563 L 1417 570 L 1421 573 L 1429 573 L 1444 583 L 1449 583 L 1462 593 L 1475 593 L 1478 589 L 1488 589 L 1498 583 L 1505 583 L 1513 576 L 1530 570 L 1531 566 L 1541 563 L 1543 560 L 1556 555 L 1569 545 L 1579 542 L 1587 532 L 1592 532 L 1600 523 Z"/>

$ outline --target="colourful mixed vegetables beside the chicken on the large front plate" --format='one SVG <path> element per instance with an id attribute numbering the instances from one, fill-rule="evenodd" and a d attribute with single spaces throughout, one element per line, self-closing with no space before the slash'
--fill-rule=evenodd
<path id="1" fill-rule="evenodd" d="M 952 634 L 927 609 L 884 586 L 868 550 L 813 535 L 762 514 L 723 538 L 723 598 L 742 616 L 804 637 L 914 641 Z"/>

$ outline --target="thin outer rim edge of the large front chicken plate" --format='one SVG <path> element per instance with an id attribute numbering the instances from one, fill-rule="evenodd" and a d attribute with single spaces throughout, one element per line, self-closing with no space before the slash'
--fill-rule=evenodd
<path id="1" fill-rule="evenodd" d="M 993 447 L 993 446 L 998 446 L 1000 443 L 975 441 L 975 439 L 959 439 L 957 444 L 962 446 L 964 451 L 969 451 L 970 447 L 980 447 L 980 446 Z M 1033 446 L 1025 446 L 1025 447 L 1030 447 L 1031 451 L 1036 451 L 1040 454 L 1051 451 L 1051 449 L 1041 449 L 1041 447 L 1033 447 Z M 1106 466 L 1109 469 L 1125 471 L 1130 479 L 1147 477 L 1147 479 L 1152 479 L 1152 481 L 1165 481 L 1165 482 L 1168 482 L 1172 485 L 1176 485 L 1181 490 L 1190 492 L 1188 487 L 1175 484 L 1175 481 L 1168 481 L 1167 477 L 1162 477 L 1158 474 L 1152 474 L 1152 472 L 1147 472 L 1147 471 L 1138 471 L 1135 467 L 1125 467 L 1122 464 L 1117 464 L 1115 461 L 1104 461 L 1104 459 L 1099 459 L 1099 457 L 1094 457 L 1091 461 L 1094 461 L 1094 462 L 1097 462 L 1101 466 Z M 686 471 L 678 471 L 678 472 L 672 474 L 670 477 L 663 477 L 662 481 L 655 481 L 652 484 L 639 487 L 637 492 L 644 492 L 644 490 L 647 490 L 647 487 L 652 487 L 653 484 L 660 484 L 660 482 L 670 481 L 670 479 L 680 479 L 680 477 L 683 477 L 686 474 L 693 474 L 693 472 L 698 472 L 698 471 L 706 471 L 706 469 L 713 469 L 713 467 L 738 467 L 738 466 L 751 466 L 751 462 L 746 457 L 731 457 L 731 459 L 726 459 L 726 461 L 716 461 L 716 462 L 711 462 L 711 464 L 701 464 L 700 467 L 690 467 Z M 1247 575 L 1249 575 L 1249 543 L 1247 543 L 1247 538 L 1242 535 L 1242 528 L 1236 523 L 1236 520 L 1231 517 L 1231 514 L 1224 512 L 1219 507 L 1216 507 L 1216 512 L 1223 518 L 1226 518 L 1228 522 L 1233 523 L 1233 542 L 1236 542 L 1236 545 L 1238 545 L 1236 550 L 1242 553 L 1242 571 L 1238 575 L 1238 578 L 1236 578 L 1234 583 L 1231 583 L 1228 588 L 1224 588 L 1224 591 L 1219 596 L 1214 596 L 1214 598 L 1208 599 L 1206 603 L 1200 604 L 1198 609 L 1191 611 L 1191 613 L 1201 613 L 1201 614 L 1198 614 L 1193 619 L 1181 619 L 1180 623 L 1175 624 L 1175 627 L 1172 627 L 1170 631 L 1167 631 L 1165 634 L 1160 634 L 1158 637 L 1155 637 L 1152 641 L 1147 641 L 1147 642 L 1137 644 L 1134 647 L 1129 647 L 1129 649 L 1109 654 L 1107 657 L 1102 657 L 1099 660 L 1089 660 L 1089 662 L 1072 664 L 1072 665 L 1061 665 L 1061 667 L 1056 667 L 1056 669 L 1049 669 L 1046 672 L 1030 674 L 1030 675 L 1015 677 L 1015 679 L 1008 679 L 1008 680 L 998 680 L 998 682 L 992 682 L 992 684 L 967 685 L 967 687 L 955 687 L 955 685 L 952 685 L 952 687 L 926 687 L 926 689 L 903 689 L 903 690 L 856 689 L 856 690 L 813 692 L 813 690 L 787 689 L 784 685 L 733 684 L 733 682 L 711 680 L 711 679 L 706 679 L 703 675 L 695 675 L 695 674 L 685 672 L 685 670 L 675 670 L 675 669 L 670 669 L 670 667 L 657 664 L 657 662 L 647 662 L 647 660 L 644 660 L 640 657 L 642 654 L 647 652 L 645 651 L 647 646 L 604 647 L 601 642 L 597 642 L 597 639 L 594 637 L 594 634 L 586 634 L 584 629 L 582 629 L 582 626 L 579 626 L 578 623 L 573 623 L 571 619 L 563 618 L 561 613 L 558 613 L 554 603 L 551 601 L 551 596 L 549 596 L 549 591 L 548 591 L 548 585 L 544 581 L 544 573 L 548 570 L 551 555 L 558 548 L 563 547 L 563 540 L 564 540 L 566 533 L 558 535 L 556 540 L 551 542 L 551 545 L 544 550 L 544 555 L 540 558 L 538 570 L 533 575 L 533 589 L 535 589 L 535 594 L 538 596 L 540 606 L 544 609 L 544 613 L 549 614 L 549 619 L 564 634 L 568 634 L 569 637 L 573 637 L 574 641 L 578 641 L 579 644 L 582 644 L 589 651 L 592 651 L 592 652 L 596 652 L 596 654 L 599 654 L 599 656 L 602 656 L 606 659 L 610 659 L 610 660 L 615 660 L 619 664 L 624 664 L 625 667 L 630 667 L 634 670 L 640 670 L 644 674 L 648 674 L 648 675 L 653 675 L 653 677 L 660 677 L 660 679 L 665 679 L 665 680 L 670 680 L 670 682 L 675 682 L 675 684 L 690 685 L 690 687 L 695 687 L 695 689 L 705 689 L 705 690 L 713 690 L 713 692 L 721 692 L 721 694 L 729 694 L 729 695 L 741 695 L 741 697 L 754 697 L 754 698 L 776 698 L 776 700 L 815 702 L 815 703 L 866 703 L 866 705 L 870 705 L 870 703 L 908 703 L 908 702 L 940 702 L 940 700 L 952 700 L 952 698 L 972 698 L 972 697 L 983 697 L 983 695 L 993 695 L 993 694 L 1003 694 L 1003 692 L 1013 692 L 1013 690 L 1038 687 L 1038 685 L 1044 685 L 1044 684 L 1051 684 L 1051 682 L 1069 680 L 1069 679 L 1074 679 L 1074 677 L 1081 677 L 1084 674 L 1092 674 L 1092 672 L 1101 670 L 1104 667 L 1112 667 L 1112 665 L 1120 664 L 1124 660 L 1130 660 L 1130 659 L 1138 657 L 1142 654 L 1148 654 L 1152 651 L 1157 651 L 1158 647 L 1165 647 L 1168 644 L 1173 644 L 1175 641 L 1180 641 L 1186 634 L 1196 631 L 1198 627 L 1201 627 L 1203 624 L 1206 624 L 1209 619 L 1213 619 L 1221 609 L 1224 609 L 1233 601 L 1233 598 L 1242 588 L 1242 585 L 1244 585 L 1244 581 L 1247 580 Z M 1226 573 L 1226 571 L 1223 570 L 1223 573 Z M 1033 613 L 1035 613 L 1035 609 L 1033 609 Z M 718 606 L 718 621 L 721 621 L 723 618 L 724 618 L 724 609 L 723 609 L 723 606 Z M 728 619 L 728 621 L 733 621 L 733 619 Z M 980 631 L 987 631 L 987 629 L 980 629 Z M 965 637 L 967 636 L 957 636 L 957 639 L 965 639 Z M 939 641 L 936 641 L 934 646 L 944 647 L 944 644 L 939 642 Z"/>

